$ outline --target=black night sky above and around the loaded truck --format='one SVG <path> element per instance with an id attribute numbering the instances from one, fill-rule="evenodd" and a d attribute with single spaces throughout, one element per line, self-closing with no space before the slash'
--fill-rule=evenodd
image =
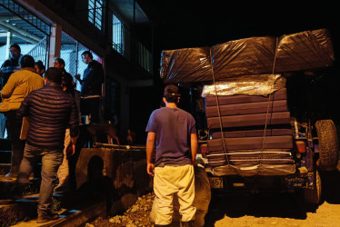
<path id="1" fill-rule="evenodd" d="M 289 82 L 295 87 L 290 99 L 295 105 L 293 108 L 298 109 L 293 111 L 302 112 L 298 113 L 301 117 L 308 112 L 305 108 L 313 106 L 315 117 L 332 118 L 338 124 L 340 16 L 335 2 L 143 0 L 138 3 L 153 21 L 155 86 L 147 91 L 145 88 L 132 91 L 145 95 L 132 101 L 135 107 L 131 111 L 138 111 L 141 107 L 147 110 L 138 120 L 138 124 L 145 122 L 145 125 L 138 126 L 136 131 L 145 133 L 149 115 L 159 107 L 165 86 L 159 78 L 162 50 L 212 46 L 253 36 L 279 37 L 322 28 L 328 29 L 332 36 L 335 64 L 321 69 L 314 78 L 305 79 L 296 74 Z M 186 88 L 181 90 L 183 96 L 179 107 L 190 111 L 189 91 Z M 144 138 L 141 142 L 144 143 Z"/>

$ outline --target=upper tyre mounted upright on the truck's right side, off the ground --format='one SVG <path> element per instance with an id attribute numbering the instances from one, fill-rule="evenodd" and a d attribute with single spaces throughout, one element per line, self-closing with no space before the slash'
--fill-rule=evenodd
<path id="1" fill-rule="evenodd" d="M 335 123 L 332 120 L 319 120 L 315 123 L 319 141 L 320 170 L 334 171 L 338 160 L 338 143 Z"/>

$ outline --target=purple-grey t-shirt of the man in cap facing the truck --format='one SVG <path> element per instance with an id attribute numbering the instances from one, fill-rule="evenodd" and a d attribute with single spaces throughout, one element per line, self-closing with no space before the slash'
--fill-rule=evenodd
<path id="1" fill-rule="evenodd" d="M 194 117 L 179 108 L 155 110 L 146 126 L 155 133 L 155 166 L 180 166 L 191 163 L 190 134 L 196 133 Z"/>

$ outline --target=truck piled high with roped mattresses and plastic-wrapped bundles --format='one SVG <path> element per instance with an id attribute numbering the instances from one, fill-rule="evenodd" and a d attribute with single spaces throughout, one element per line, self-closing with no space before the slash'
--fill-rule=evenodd
<path id="1" fill-rule="evenodd" d="M 296 111 L 292 78 L 313 78 L 334 60 L 327 29 L 162 52 L 164 83 L 198 94 L 199 157 L 212 192 L 303 192 L 306 203 L 320 202 L 319 172 L 338 163 L 336 126 Z"/>

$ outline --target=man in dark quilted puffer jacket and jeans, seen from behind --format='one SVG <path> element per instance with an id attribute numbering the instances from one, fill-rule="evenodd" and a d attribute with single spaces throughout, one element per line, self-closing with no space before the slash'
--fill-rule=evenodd
<path id="1" fill-rule="evenodd" d="M 67 127 L 71 136 L 71 155 L 79 134 L 79 116 L 75 98 L 62 90 L 62 69 L 49 68 L 45 72 L 45 87 L 25 97 L 17 111 L 18 117 L 29 116 L 29 128 L 23 161 L 17 177 L 16 188 L 28 183 L 35 163 L 42 159 L 42 181 L 39 192 L 38 218 L 36 222 L 58 219 L 51 212 L 52 194 L 56 173 L 63 161 L 64 138 Z"/>

